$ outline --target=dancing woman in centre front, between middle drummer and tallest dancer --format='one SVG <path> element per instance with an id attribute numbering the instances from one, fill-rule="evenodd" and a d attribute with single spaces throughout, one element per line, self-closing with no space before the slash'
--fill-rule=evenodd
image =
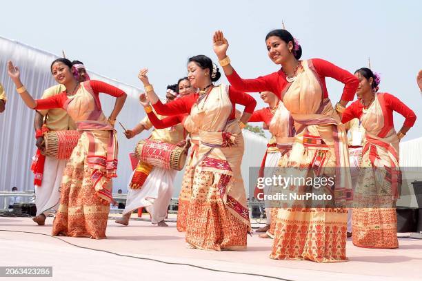
<path id="1" fill-rule="evenodd" d="M 214 85 L 221 74 L 208 56 L 188 60 L 188 78 L 199 92 L 163 105 L 146 76 L 139 73 L 148 99 L 158 114 L 190 114 L 199 132 L 186 241 L 198 249 L 244 250 L 250 229 L 245 187 L 241 177 L 243 136 L 241 125 L 248 122 L 257 102 L 232 87 Z M 235 104 L 245 106 L 238 121 Z"/>

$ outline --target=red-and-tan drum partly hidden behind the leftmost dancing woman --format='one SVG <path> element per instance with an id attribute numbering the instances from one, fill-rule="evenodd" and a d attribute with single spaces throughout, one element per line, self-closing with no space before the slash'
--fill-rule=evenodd
<path id="1" fill-rule="evenodd" d="M 69 159 L 79 141 L 78 131 L 49 131 L 44 134 L 46 150 L 44 155 L 57 159 Z"/>

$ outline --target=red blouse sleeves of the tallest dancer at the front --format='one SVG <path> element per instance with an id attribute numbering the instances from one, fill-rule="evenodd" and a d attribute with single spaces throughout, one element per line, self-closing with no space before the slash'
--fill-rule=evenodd
<path id="1" fill-rule="evenodd" d="M 323 59 L 311 59 L 310 60 L 317 78 L 321 81 L 321 86 L 324 94 L 324 98 L 328 98 L 327 86 L 325 85 L 325 77 L 331 77 L 337 81 L 342 82 L 344 85 L 343 94 L 341 99 L 343 101 L 353 101 L 354 94 L 359 85 L 359 79 L 347 70 L 328 62 Z M 312 66 L 310 65 L 310 67 Z M 245 92 L 263 92 L 270 91 L 276 94 L 281 99 L 281 92 L 288 84 L 285 80 L 285 74 L 283 70 L 273 72 L 265 76 L 259 76 L 257 79 L 241 79 L 239 74 L 233 70 L 233 73 L 226 75 L 230 84 L 237 90 Z"/>

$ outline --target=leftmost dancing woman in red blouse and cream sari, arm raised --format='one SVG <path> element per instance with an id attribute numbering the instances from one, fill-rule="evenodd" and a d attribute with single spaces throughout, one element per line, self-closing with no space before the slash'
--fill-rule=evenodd
<path id="1" fill-rule="evenodd" d="M 63 172 L 60 207 L 53 222 L 52 236 L 106 238 L 107 218 L 112 200 L 112 178 L 116 177 L 117 139 L 113 129 L 126 99 L 122 90 L 101 81 L 80 83 L 68 59 L 57 59 L 51 73 L 66 91 L 34 100 L 23 86 L 20 71 L 11 61 L 8 74 L 17 92 L 33 110 L 62 108 L 77 124 L 81 137 Z M 110 116 L 101 110 L 99 93 L 116 97 Z"/>

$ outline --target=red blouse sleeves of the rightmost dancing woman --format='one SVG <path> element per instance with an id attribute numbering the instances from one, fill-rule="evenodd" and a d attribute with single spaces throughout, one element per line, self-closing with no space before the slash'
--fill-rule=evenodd
<path id="1" fill-rule="evenodd" d="M 407 105 L 405 105 L 399 98 L 396 98 L 392 94 L 388 93 L 380 93 L 384 96 L 385 101 L 385 108 L 383 108 L 383 112 L 385 112 L 384 118 L 385 123 L 384 125 L 387 127 L 394 127 L 393 123 L 393 111 L 399 112 L 399 114 L 403 115 L 405 118 L 404 126 L 412 127 L 416 122 L 416 115 L 414 114 L 413 110 L 411 110 Z M 381 103 L 382 105 L 383 103 Z M 348 106 L 343 115 L 341 116 L 342 123 L 348 123 L 353 118 L 361 118 L 363 110 L 362 103 L 357 100 L 354 101 L 350 106 Z"/>

